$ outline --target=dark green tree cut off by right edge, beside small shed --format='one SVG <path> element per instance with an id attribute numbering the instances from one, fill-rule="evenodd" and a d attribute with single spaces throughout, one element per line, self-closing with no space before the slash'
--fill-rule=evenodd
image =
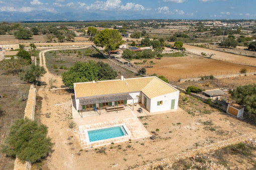
<path id="1" fill-rule="evenodd" d="M 231 95 L 237 104 L 245 106 L 246 111 L 256 114 L 256 84 L 238 86 Z"/>

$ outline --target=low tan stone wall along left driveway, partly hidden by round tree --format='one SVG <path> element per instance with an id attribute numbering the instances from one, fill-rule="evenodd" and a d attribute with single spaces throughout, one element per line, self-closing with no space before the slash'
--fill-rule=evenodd
<path id="1" fill-rule="evenodd" d="M 29 119 L 32 119 L 32 120 L 35 119 L 36 95 L 37 95 L 37 89 L 34 84 L 31 84 L 29 89 L 27 105 L 25 108 L 24 118 L 28 117 Z M 30 170 L 30 169 L 31 169 L 30 162 L 26 161 L 25 163 L 23 163 L 19 158 L 15 159 L 14 170 Z"/>

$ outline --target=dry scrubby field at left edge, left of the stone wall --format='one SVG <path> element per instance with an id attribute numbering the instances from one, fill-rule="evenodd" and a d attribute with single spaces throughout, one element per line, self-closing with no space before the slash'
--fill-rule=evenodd
<path id="1" fill-rule="evenodd" d="M 3 96 L 0 98 L 0 105 L 3 108 L 3 112 L 0 111 L 0 144 L 5 140 L 9 126 L 16 119 L 24 117 L 27 102 L 20 98 L 20 94 L 28 95 L 29 88 L 30 84 L 24 83 L 17 75 L 6 74 L 5 71 L 0 70 L 0 94 Z M 2 167 L 13 169 L 14 159 L 0 153 L 0 169 Z"/>

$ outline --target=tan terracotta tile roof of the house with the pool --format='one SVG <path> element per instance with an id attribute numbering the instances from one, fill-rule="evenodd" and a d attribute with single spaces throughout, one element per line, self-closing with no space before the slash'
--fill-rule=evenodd
<path id="1" fill-rule="evenodd" d="M 177 91 L 156 76 L 74 83 L 76 98 L 142 91 L 149 98 Z"/>

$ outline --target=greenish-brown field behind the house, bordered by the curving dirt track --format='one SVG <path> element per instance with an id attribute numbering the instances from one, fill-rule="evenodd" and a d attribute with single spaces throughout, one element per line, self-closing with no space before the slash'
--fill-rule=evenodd
<path id="1" fill-rule="evenodd" d="M 61 75 L 62 72 L 67 70 L 76 61 L 103 61 L 108 63 L 116 72 L 120 78 L 123 75 L 126 78 L 136 77 L 135 73 L 128 71 L 120 66 L 116 65 L 112 61 L 106 59 L 102 54 L 98 53 L 93 47 L 80 48 L 80 49 L 67 49 L 67 50 L 53 50 L 45 53 L 46 65 L 49 71 L 55 75 Z"/>

